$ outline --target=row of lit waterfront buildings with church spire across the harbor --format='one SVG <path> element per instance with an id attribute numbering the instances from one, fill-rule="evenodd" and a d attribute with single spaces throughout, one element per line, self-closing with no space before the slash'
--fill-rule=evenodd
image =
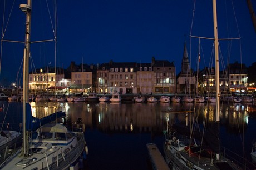
<path id="1" fill-rule="evenodd" d="M 67 69 L 45 67 L 29 73 L 29 89 L 110 94 L 195 94 L 215 91 L 214 68 L 194 72 L 190 68 L 186 43 L 181 71 L 177 76 L 176 73 L 174 62 L 157 60 L 155 57 L 152 57 L 151 63 L 110 61 L 96 65 L 76 65 L 71 62 Z M 241 91 L 248 86 L 247 78 L 244 64 L 229 64 L 221 72 L 220 89 L 223 92 Z"/>

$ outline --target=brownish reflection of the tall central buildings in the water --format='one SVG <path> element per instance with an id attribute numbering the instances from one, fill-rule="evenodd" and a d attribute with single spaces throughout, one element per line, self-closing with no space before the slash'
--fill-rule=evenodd
<path id="1" fill-rule="evenodd" d="M 96 116 L 97 128 L 104 129 L 104 131 L 163 131 L 160 127 L 166 124 L 164 114 L 161 113 L 160 107 L 154 104 L 107 103 L 107 106 L 105 110 L 101 107 L 97 108 L 98 116 Z"/>

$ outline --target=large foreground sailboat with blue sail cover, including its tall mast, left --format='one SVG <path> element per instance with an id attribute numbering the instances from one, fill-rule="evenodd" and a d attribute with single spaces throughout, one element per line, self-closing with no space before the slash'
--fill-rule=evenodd
<path id="1" fill-rule="evenodd" d="M 26 13 L 26 36 L 23 65 L 23 146 L 6 159 L 0 169 L 68 169 L 86 157 L 83 132 L 71 132 L 59 123 L 47 123 L 48 118 L 34 119 L 28 103 L 28 73 L 31 33 L 31 1 L 19 8 Z M 63 114 L 63 112 L 60 112 Z M 52 119 L 51 117 L 49 118 Z M 43 124 L 43 126 L 41 126 Z M 37 130 L 35 130 L 37 129 Z M 36 137 L 31 135 L 36 132 Z M 35 133 L 34 133 L 35 134 Z"/>

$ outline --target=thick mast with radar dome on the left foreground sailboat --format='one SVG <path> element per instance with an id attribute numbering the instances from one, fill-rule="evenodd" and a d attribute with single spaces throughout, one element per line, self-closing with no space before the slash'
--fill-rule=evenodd
<path id="1" fill-rule="evenodd" d="M 28 132 L 26 131 L 26 103 L 28 103 L 28 86 L 29 86 L 29 55 L 30 55 L 30 33 L 31 33 L 31 0 L 27 4 L 21 4 L 19 9 L 26 13 L 26 30 L 24 46 L 24 63 L 23 63 L 23 156 L 28 155 Z"/>

